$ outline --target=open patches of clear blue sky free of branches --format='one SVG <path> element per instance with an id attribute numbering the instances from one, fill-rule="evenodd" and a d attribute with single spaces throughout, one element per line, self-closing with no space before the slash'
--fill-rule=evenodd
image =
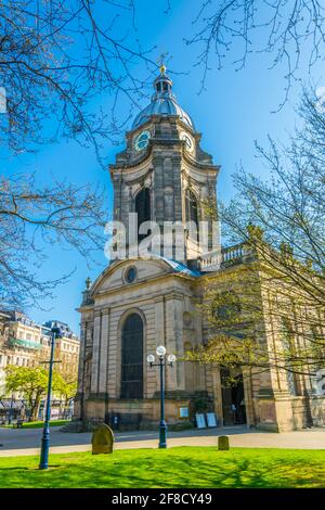
<path id="1" fill-rule="evenodd" d="M 196 129 L 203 133 L 202 146 L 212 154 L 216 164 L 221 165 L 218 195 L 223 201 L 234 194 L 232 174 L 238 164 L 257 175 L 266 177 L 266 170 L 255 157 L 255 140 L 266 143 L 270 133 L 280 141 L 285 141 L 299 120 L 295 112 L 300 91 L 300 84 L 295 82 L 289 100 L 277 113 L 284 98 L 284 67 L 268 69 L 271 60 L 268 55 L 251 54 L 246 67 L 239 72 L 232 65 L 234 55 L 230 54 L 222 69 L 218 71 L 216 60 L 211 60 L 212 71 L 206 81 L 206 91 L 198 93 L 203 68 L 193 66 L 199 48 L 186 46 L 183 41 L 198 10 L 195 0 L 171 0 L 171 10 L 166 14 L 167 2 L 141 0 L 135 2 L 135 25 L 142 46 L 156 46 L 152 59 L 161 52 L 171 56 L 168 67 L 179 73 L 172 74 L 173 91 L 179 103 L 194 119 Z M 136 68 L 135 68 L 136 72 Z M 139 69 L 141 73 L 141 69 Z M 324 85 L 321 64 L 312 71 L 312 79 Z M 310 78 L 307 65 L 300 69 L 303 82 Z M 323 80 L 323 81 L 322 81 Z M 151 92 L 150 92 L 151 93 Z M 109 98 L 98 99 L 99 106 L 109 107 Z M 143 101 L 142 106 L 145 106 Z M 134 112 L 134 115 L 136 112 Z M 121 146 L 107 144 L 105 156 L 114 162 L 115 154 Z M 3 163 L 3 161 L 2 161 Z M 105 184 L 107 190 L 107 211 L 112 208 L 112 186 L 109 175 L 100 167 L 91 149 L 80 148 L 76 142 L 61 141 L 42 148 L 36 155 L 4 160 L 4 171 L 14 173 L 36 170 L 40 180 L 47 180 L 52 174 L 57 179 L 66 177 L 75 183 L 91 182 Z M 37 321 L 56 318 L 68 322 L 79 331 L 79 315 L 76 307 L 80 304 L 81 291 L 88 276 L 94 279 L 106 266 L 103 253 L 98 255 L 98 266 L 87 267 L 86 262 L 74 251 L 61 248 L 47 250 L 48 259 L 40 269 L 40 278 L 58 278 L 75 269 L 68 283 L 57 288 L 56 296 L 42 303 L 46 310 L 29 309 L 28 314 Z"/>

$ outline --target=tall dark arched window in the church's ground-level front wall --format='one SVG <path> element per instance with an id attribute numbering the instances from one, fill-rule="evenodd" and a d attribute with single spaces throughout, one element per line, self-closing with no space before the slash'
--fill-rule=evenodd
<path id="1" fill-rule="evenodd" d="M 121 398 L 143 398 L 143 321 L 130 315 L 121 335 Z"/>

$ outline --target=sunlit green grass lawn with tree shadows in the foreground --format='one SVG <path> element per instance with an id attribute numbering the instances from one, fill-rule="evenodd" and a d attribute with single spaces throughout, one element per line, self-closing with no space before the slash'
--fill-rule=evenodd
<path id="1" fill-rule="evenodd" d="M 325 450 L 174 447 L 0 458 L 0 487 L 325 487 Z"/>

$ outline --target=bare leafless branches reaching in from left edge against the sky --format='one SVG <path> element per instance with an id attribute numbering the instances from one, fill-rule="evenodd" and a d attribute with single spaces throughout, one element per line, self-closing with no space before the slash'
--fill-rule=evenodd
<path id="1" fill-rule="evenodd" d="M 2 154 L 32 152 L 60 137 L 95 149 L 116 141 L 145 80 L 157 68 L 135 37 L 133 1 L 0 1 Z M 144 66 L 142 79 L 135 64 Z M 110 97 L 101 111 L 98 97 Z M 1 98 L 0 98 L 1 99 Z M 122 105 L 125 118 L 116 114 Z M 2 97 L 2 111 L 3 111 Z M 55 178 L 44 187 L 21 173 L 0 182 L 0 302 L 40 304 L 58 280 L 40 281 L 46 244 L 90 257 L 103 250 L 103 194 Z M 27 269 L 29 268 L 29 269 Z"/>

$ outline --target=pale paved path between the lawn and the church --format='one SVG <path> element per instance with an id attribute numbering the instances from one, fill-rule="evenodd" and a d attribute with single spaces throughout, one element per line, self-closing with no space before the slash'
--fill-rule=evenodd
<path id="1" fill-rule="evenodd" d="M 91 449 L 89 432 L 76 434 L 52 428 L 50 434 L 52 454 Z M 213 446 L 217 445 L 218 435 L 224 434 L 231 436 L 231 446 L 244 448 L 325 449 L 325 428 L 282 434 L 256 432 L 243 426 L 170 432 L 168 446 Z M 0 457 L 38 455 L 41 435 L 41 429 L 0 429 Z M 117 449 L 156 448 L 158 444 L 155 431 L 119 432 L 115 436 Z"/>

